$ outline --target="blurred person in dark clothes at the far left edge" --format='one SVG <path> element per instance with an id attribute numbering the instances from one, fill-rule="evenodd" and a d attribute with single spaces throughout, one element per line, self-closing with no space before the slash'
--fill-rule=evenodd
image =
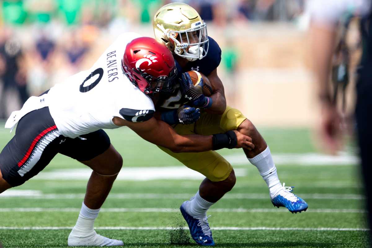
<path id="1" fill-rule="evenodd" d="M 19 94 L 20 105 L 29 98 L 26 88 L 26 72 L 22 68 L 22 48 L 20 41 L 13 36 L 10 29 L 4 29 L 0 38 L 0 80 L 3 89 L 0 96 L 0 118 L 7 118 L 6 96 L 15 89 Z"/>

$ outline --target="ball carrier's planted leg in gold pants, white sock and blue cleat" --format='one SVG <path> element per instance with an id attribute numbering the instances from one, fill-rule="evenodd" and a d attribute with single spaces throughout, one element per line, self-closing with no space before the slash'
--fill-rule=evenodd
<path id="1" fill-rule="evenodd" d="M 177 133 L 193 133 L 193 125 L 177 125 Z M 183 202 L 180 210 L 190 228 L 192 238 L 200 245 L 214 245 L 206 212 L 225 193 L 234 187 L 236 178 L 230 163 L 215 151 L 174 153 L 160 147 L 163 151 L 182 162 L 192 170 L 206 176 L 195 196 Z"/>

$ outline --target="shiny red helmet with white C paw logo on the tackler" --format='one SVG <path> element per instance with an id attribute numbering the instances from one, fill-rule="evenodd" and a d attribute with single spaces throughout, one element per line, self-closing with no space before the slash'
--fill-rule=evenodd
<path id="1" fill-rule="evenodd" d="M 145 94 L 173 91 L 177 69 L 168 48 L 150 37 L 140 37 L 126 45 L 122 68 L 132 83 Z"/>

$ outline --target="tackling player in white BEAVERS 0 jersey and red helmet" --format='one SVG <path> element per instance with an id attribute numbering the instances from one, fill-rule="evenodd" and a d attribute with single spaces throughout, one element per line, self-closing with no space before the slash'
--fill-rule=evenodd
<path id="1" fill-rule="evenodd" d="M 123 162 L 102 129 L 128 126 L 145 140 L 174 152 L 254 148 L 250 137 L 236 131 L 178 135 L 156 120 L 152 97 L 171 90 L 175 77 L 174 59 L 166 46 L 135 33 L 119 36 L 90 70 L 30 97 L 21 110 L 12 113 L 6 128 L 18 125 L 0 153 L 0 193 L 38 174 L 57 153 L 67 155 L 93 170 L 68 245 L 123 245 L 93 229 Z M 184 120 L 199 115 L 195 108 L 177 113 Z"/>

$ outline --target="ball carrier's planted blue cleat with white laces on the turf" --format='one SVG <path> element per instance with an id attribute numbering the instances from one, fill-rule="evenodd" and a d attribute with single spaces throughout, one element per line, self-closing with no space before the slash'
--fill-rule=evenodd
<path id="1" fill-rule="evenodd" d="M 211 246 L 214 245 L 214 240 L 212 238 L 212 231 L 209 228 L 208 217 L 206 218 L 194 218 L 186 212 L 186 203 L 182 203 L 180 210 L 183 218 L 185 218 L 187 225 L 189 225 L 190 233 L 192 238 L 198 245 Z"/>

